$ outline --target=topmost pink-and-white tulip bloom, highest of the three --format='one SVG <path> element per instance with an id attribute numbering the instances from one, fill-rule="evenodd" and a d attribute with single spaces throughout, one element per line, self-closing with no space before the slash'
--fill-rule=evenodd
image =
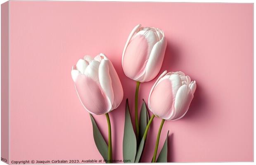
<path id="1" fill-rule="evenodd" d="M 154 79 L 161 69 L 166 45 L 161 29 L 135 26 L 123 50 L 122 66 L 126 76 L 137 82 Z"/>

